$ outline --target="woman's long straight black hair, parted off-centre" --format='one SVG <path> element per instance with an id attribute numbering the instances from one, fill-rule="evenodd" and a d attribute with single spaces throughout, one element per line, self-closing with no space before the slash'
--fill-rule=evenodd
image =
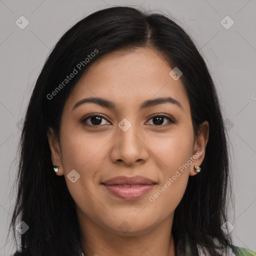
<path id="1" fill-rule="evenodd" d="M 91 63 L 113 50 L 137 47 L 158 50 L 170 68 L 182 71 L 180 79 L 189 99 L 194 133 L 204 120 L 209 123 L 202 171 L 189 176 L 174 212 L 176 253 L 184 255 L 186 244 L 191 255 L 198 255 L 198 244 L 210 255 L 220 255 L 215 250 L 216 239 L 223 247 L 232 246 L 231 237 L 221 229 L 227 220 L 227 193 L 231 192 L 227 134 L 203 57 L 184 29 L 167 16 L 115 6 L 98 10 L 68 29 L 36 80 L 19 141 L 17 197 L 9 228 L 17 246 L 20 238 L 24 255 L 71 256 L 80 252 L 75 202 L 64 176 L 53 172 L 47 129 L 52 127 L 59 136 L 64 103 Z M 65 80 L 74 68 L 78 73 Z M 29 226 L 22 235 L 15 229 L 21 220 Z"/>

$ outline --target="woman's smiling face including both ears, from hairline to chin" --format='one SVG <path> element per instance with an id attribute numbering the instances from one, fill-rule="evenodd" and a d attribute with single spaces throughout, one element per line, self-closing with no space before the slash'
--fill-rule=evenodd
<path id="1" fill-rule="evenodd" d="M 48 138 L 52 163 L 59 165 L 58 175 L 64 174 L 80 221 L 132 234 L 163 220 L 171 225 L 188 177 L 197 173 L 193 166 L 203 160 L 208 125 L 204 122 L 194 136 L 183 84 L 170 71 L 151 48 L 115 51 L 95 61 L 69 95 L 60 142 L 53 134 Z M 104 104 L 85 102 L 91 97 Z M 116 185 L 118 181 L 103 184 L 135 175 L 153 184 L 142 179 L 134 179 L 139 184 L 131 187 Z"/>

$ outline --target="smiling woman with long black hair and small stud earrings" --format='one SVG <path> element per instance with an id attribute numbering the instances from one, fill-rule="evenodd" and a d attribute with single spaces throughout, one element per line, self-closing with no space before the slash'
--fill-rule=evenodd
<path id="1" fill-rule="evenodd" d="M 194 43 L 131 7 L 83 18 L 36 81 L 15 255 L 256 255 L 232 244 L 227 139 Z"/>

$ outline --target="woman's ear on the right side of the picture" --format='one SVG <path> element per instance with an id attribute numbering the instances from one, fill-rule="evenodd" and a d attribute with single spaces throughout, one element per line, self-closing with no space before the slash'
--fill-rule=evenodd
<path id="1" fill-rule="evenodd" d="M 192 155 L 193 158 L 192 164 L 190 165 L 189 175 L 193 176 L 197 174 L 194 170 L 194 165 L 200 166 L 204 155 L 205 155 L 205 148 L 208 142 L 209 137 L 209 123 L 207 121 L 204 121 L 200 124 L 198 134 L 195 137 Z"/>

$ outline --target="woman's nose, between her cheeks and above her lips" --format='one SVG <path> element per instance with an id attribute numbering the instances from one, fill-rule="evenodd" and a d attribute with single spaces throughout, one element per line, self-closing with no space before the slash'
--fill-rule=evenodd
<path id="1" fill-rule="evenodd" d="M 142 131 L 135 124 L 132 124 L 126 131 L 118 127 L 113 139 L 110 153 L 113 162 L 131 166 L 141 164 L 148 159 L 149 149 L 143 139 Z"/>

